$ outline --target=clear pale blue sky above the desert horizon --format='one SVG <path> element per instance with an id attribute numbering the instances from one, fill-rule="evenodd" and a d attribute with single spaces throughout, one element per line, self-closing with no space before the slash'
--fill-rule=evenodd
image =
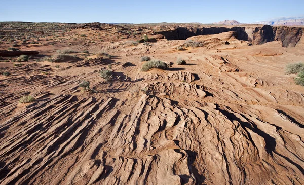
<path id="1" fill-rule="evenodd" d="M 235 19 L 241 23 L 304 17 L 304 0 L 154 0 L 1 2 L 0 21 L 28 22 L 201 22 Z"/>

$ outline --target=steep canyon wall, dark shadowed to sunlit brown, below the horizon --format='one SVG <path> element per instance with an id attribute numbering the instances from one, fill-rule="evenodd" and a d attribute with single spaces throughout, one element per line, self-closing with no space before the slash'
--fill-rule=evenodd
<path id="1" fill-rule="evenodd" d="M 260 45 L 271 41 L 281 41 L 283 47 L 295 47 L 303 35 L 301 27 L 287 26 L 257 26 L 257 27 L 175 27 L 171 30 L 160 31 L 167 40 L 183 40 L 191 36 L 219 34 L 234 31 L 238 40 L 250 41 Z"/>

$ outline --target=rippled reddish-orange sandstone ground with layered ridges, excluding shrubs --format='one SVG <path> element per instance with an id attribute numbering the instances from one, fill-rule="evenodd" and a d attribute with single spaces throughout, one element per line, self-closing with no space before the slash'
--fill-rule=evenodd
<path id="1" fill-rule="evenodd" d="M 20 47 L 88 50 L 81 61 L 0 63 L 11 73 L 0 77 L 0 184 L 304 184 L 304 87 L 284 73 L 304 61 L 301 43 L 248 46 L 221 33 L 178 51 L 184 40 L 128 46 L 106 34 Z M 142 72 L 142 56 L 173 65 Z M 18 103 L 24 94 L 36 100 Z"/>

